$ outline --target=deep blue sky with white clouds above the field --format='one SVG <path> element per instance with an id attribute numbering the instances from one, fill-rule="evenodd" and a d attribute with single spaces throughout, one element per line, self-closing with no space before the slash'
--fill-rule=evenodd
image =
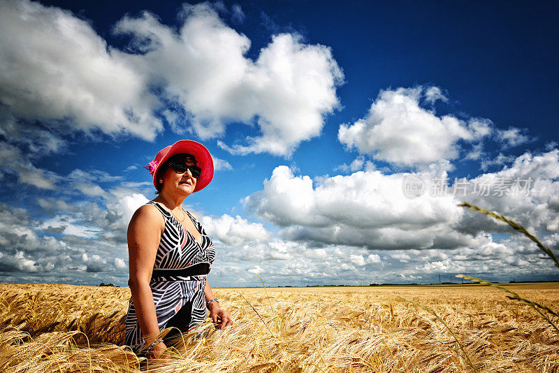
<path id="1" fill-rule="evenodd" d="M 215 241 L 213 286 L 559 279 L 456 206 L 558 247 L 556 4 L 0 10 L 0 281 L 124 286 L 143 166 L 179 139 L 216 160 L 185 200 Z"/>

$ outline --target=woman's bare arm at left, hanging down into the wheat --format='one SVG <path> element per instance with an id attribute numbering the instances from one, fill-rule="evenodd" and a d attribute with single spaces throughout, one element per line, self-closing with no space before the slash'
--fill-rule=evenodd
<path id="1" fill-rule="evenodd" d="M 164 221 L 156 207 L 145 205 L 136 210 L 128 226 L 128 251 L 130 278 L 136 317 L 144 338 L 159 335 L 150 280 Z M 154 346 L 152 351 L 164 349 L 164 344 Z"/>

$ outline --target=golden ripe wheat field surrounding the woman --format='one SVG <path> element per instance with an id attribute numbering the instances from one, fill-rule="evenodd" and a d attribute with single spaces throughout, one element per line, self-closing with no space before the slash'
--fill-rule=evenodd
<path id="1" fill-rule="evenodd" d="M 558 283 L 509 288 L 559 304 Z M 0 371 L 559 372 L 556 330 L 488 286 L 215 293 L 235 325 L 148 362 L 122 346 L 129 288 L 0 284 Z"/>

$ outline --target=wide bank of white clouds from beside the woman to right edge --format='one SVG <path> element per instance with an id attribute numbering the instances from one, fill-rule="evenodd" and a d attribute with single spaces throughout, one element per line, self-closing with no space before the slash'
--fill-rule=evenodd
<path id="1" fill-rule="evenodd" d="M 500 211 L 534 232 L 559 229 L 559 202 L 551 203 L 559 193 L 559 150 L 525 153 L 511 167 L 454 183 L 447 178 L 448 167 L 432 164 L 414 174 L 389 175 L 369 169 L 313 181 L 280 166 L 263 190 L 244 202 L 257 216 L 283 227 L 279 237 L 316 247 L 456 249 L 476 246 L 487 232 L 509 232 L 458 208 L 463 200 Z M 422 195 L 405 194 L 410 175 L 426 184 Z M 440 193 L 435 182 L 442 182 Z"/>

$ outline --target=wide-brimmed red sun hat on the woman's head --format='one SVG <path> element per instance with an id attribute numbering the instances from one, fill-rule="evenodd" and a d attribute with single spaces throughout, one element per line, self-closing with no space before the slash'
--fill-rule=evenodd
<path id="1" fill-rule="evenodd" d="M 152 174 L 153 185 L 156 189 L 157 171 L 159 170 L 161 164 L 167 162 L 167 160 L 173 155 L 181 153 L 194 155 L 196 158 L 196 166 L 202 169 L 200 177 L 196 178 L 196 188 L 194 188 L 194 192 L 202 190 L 210 183 L 210 181 L 212 181 L 212 178 L 214 177 L 214 161 L 212 160 L 212 155 L 210 155 L 208 149 L 196 141 L 180 140 L 173 143 L 173 145 L 159 150 L 155 159 L 152 160 L 147 167 L 145 167 L 148 171 L 150 171 L 150 174 Z"/>

